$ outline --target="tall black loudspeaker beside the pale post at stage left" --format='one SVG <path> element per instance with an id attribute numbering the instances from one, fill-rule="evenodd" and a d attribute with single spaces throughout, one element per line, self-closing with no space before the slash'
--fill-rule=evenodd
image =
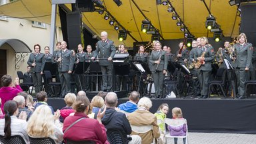
<path id="1" fill-rule="evenodd" d="M 79 12 L 67 13 L 67 47 L 77 49 L 81 43 L 81 14 Z"/>

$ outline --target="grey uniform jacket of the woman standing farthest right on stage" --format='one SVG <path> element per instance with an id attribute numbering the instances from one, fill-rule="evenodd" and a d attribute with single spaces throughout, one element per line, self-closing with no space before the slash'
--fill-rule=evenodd
<path id="1" fill-rule="evenodd" d="M 251 45 L 251 43 L 245 43 L 244 45 L 240 45 L 239 43 L 237 43 L 235 44 L 235 52 L 237 54 L 237 57 L 235 59 L 235 67 L 251 68 L 253 45 Z"/>

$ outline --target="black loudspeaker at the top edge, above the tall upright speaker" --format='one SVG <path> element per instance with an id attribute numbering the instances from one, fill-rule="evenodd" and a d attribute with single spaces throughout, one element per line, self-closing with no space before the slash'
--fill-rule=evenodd
<path id="1" fill-rule="evenodd" d="M 72 4 L 72 11 L 93 12 L 94 3 L 91 0 L 77 0 L 77 3 Z"/>

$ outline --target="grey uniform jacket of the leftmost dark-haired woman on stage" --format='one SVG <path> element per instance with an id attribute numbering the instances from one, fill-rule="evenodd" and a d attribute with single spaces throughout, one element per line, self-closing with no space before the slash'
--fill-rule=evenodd
<path id="1" fill-rule="evenodd" d="M 27 64 L 31 66 L 31 73 L 40 73 L 43 71 L 43 67 L 45 66 L 44 53 L 31 53 L 29 55 L 29 59 L 27 60 Z M 35 67 L 32 66 L 32 63 L 35 61 Z"/>

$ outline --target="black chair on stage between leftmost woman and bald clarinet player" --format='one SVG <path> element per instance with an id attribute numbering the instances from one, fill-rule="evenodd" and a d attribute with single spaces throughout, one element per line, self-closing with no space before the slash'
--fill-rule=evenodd
<path id="1" fill-rule="evenodd" d="M 56 97 L 61 92 L 61 83 L 53 82 L 53 77 L 50 71 L 44 71 L 43 73 L 44 73 L 45 85 L 48 85 L 49 87 L 51 87 L 51 93 L 53 93 L 53 96 Z M 55 91 L 56 87 L 59 87 L 59 90 L 60 90 L 59 93 Z"/>

